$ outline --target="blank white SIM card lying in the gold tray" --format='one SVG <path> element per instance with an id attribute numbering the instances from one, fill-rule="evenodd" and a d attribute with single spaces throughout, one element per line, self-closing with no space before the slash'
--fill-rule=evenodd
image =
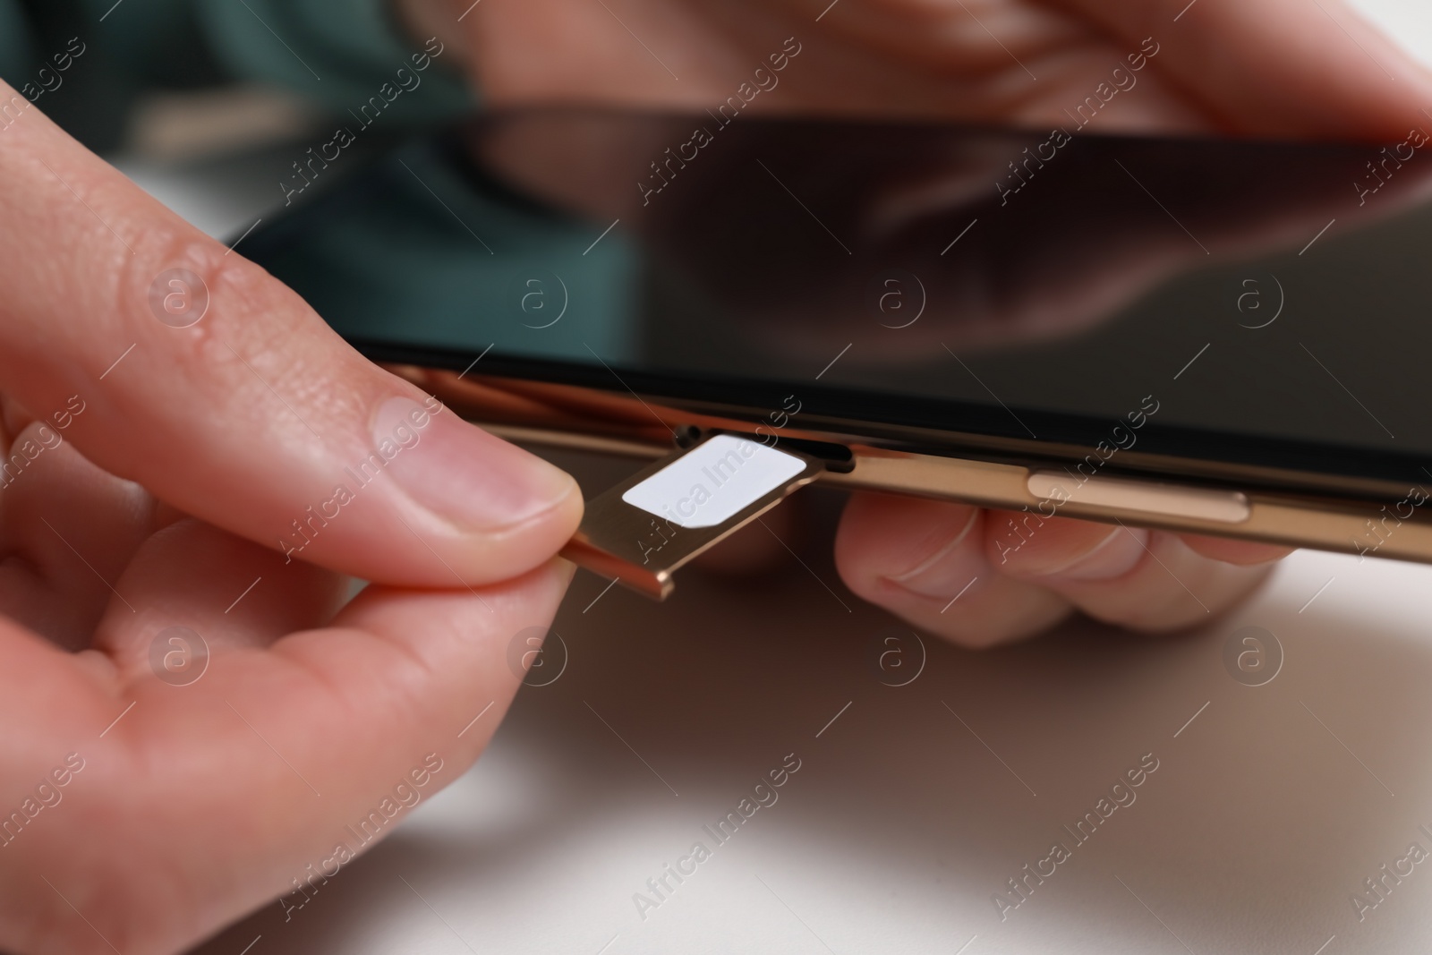
<path id="1" fill-rule="evenodd" d="M 629 488 L 621 500 L 677 527 L 717 527 L 805 471 L 805 461 L 719 434 Z"/>

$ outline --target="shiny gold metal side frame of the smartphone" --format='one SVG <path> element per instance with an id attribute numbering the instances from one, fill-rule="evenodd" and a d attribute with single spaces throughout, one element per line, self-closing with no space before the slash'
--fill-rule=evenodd
<path id="1" fill-rule="evenodd" d="M 821 484 L 912 494 L 1048 515 L 1050 475 L 1093 448 L 898 425 L 825 420 L 776 428 L 762 411 L 739 405 L 637 397 L 577 385 L 495 375 L 458 375 L 415 365 L 385 365 L 437 395 L 464 418 L 504 438 L 634 458 L 662 458 L 674 435 L 759 434 L 766 441 L 819 442 L 849 452 Z M 759 432 L 758 432 L 759 428 Z M 858 430 L 858 431 L 856 431 Z M 939 448 L 939 454 L 929 450 Z M 968 454 L 969 457 L 957 457 Z M 1432 563 L 1432 515 L 1408 487 L 1329 474 L 1217 461 L 1118 452 L 1118 468 L 1093 477 L 1093 494 L 1074 493 L 1057 513 L 1091 521 L 1310 547 L 1346 554 Z M 1429 478 L 1432 484 L 1432 478 Z M 1041 491 L 1041 493 L 1035 493 Z M 1403 514 L 1403 505 L 1409 513 Z M 1041 511 L 1041 504 L 1045 507 Z"/>

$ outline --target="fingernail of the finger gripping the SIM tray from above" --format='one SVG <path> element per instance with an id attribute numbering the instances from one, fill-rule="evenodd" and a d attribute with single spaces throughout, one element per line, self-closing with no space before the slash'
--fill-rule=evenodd
<path id="1" fill-rule="evenodd" d="M 388 398 L 372 418 L 372 440 L 385 460 L 382 471 L 408 497 L 468 530 L 520 524 L 577 490 L 564 471 L 463 421 L 435 399 Z M 372 457 L 367 470 L 377 470 Z"/>

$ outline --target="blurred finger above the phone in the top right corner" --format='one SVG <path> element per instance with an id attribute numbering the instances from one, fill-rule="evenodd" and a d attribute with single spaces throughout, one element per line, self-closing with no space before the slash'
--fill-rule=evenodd
<path id="1" fill-rule="evenodd" d="M 1103 23 L 1237 132 L 1402 139 L 1432 74 L 1340 0 L 1054 0 Z"/>

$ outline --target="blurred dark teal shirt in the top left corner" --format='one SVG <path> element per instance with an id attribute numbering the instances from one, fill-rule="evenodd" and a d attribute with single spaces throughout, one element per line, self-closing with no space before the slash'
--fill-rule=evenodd
<path id="1" fill-rule="evenodd" d="M 269 83 L 344 115 L 422 50 L 390 0 L 0 0 L 0 77 L 95 150 L 123 137 L 149 89 Z M 79 54 L 76 56 L 76 52 Z M 435 62 L 394 125 L 471 110 L 464 77 Z"/>

